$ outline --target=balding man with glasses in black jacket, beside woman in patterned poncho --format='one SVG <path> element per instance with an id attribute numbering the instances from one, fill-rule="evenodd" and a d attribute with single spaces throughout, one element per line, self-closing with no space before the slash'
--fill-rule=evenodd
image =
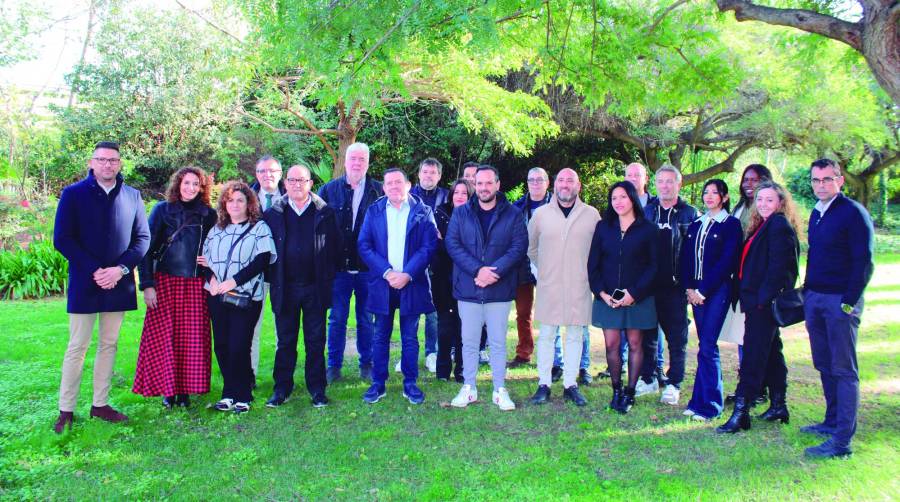
<path id="1" fill-rule="evenodd" d="M 292 166 L 287 174 L 287 194 L 275 199 L 263 216 L 272 230 L 278 256 L 266 274 L 278 335 L 272 371 L 275 387 L 266 406 L 281 406 L 294 390 L 302 314 L 306 390 L 313 406 L 321 408 L 328 404 L 325 312 L 331 306 L 334 274 L 341 265 L 341 233 L 334 210 L 312 192 L 309 168 Z"/>

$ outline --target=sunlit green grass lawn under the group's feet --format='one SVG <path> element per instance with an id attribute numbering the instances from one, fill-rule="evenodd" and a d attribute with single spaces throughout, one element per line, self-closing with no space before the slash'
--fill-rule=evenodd
<path id="1" fill-rule="evenodd" d="M 534 368 L 511 371 L 518 405 L 500 412 L 481 402 L 443 406 L 455 383 L 420 379 L 427 399 L 412 406 L 391 373 L 388 396 L 374 406 L 361 397 L 355 358 L 344 382 L 329 387 L 332 404 L 313 409 L 297 372 L 297 392 L 281 408 L 262 406 L 272 389 L 273 329 L 267 312 L 260 388 L 242 416 L 207 409 L 213 392 L 187 410 L 164 410 L 158 399 L 131 393 L 142 313 L 126 315 L 119 341 L 112 403 L 126 425 L 87 418 L 92 347 L 85 365 L 77 421 L 57 436 L 62 355 L 68 341 L 64 301 L 0 303 L 0 497 L 4 499 L 494 499 L 550 500 L 890 500 L 900 493 L 900 260 L 879 257 L 859 337 L 862 405 L 850 459 L 811 461 L 817 444 L 799 432 L 824 410 L 818 374 L 800 328 L 785 335 L 790 367 L 790 425 L 753 422 L 747 433 L 722 437 L 718 422 L 699 424 L 649 397 L 620 416 L 605 410 L 610 389 L 585 388 L 590 404 L 529 406 Z M 509 331 L 513 355 L 515 334 Z M 592 339 L 592 372 L 605 367 L 600 334 Z M 302 345 L 302 344 L 301 344 Z M 352 345 L 352 343 L 348 343 Z M 690 397 L 696 367 L 691 330 Z M 396 361 L 394 354 L 392 362 Z M 301 355 L 302 357 L 302 355 Z M 723 346 L 726 390 L 734 388 L 736 352 Z M 302 361 L 302 359 L 301 359 Z M 482 401 L 489 375 L 479 375 Z M 760 411 L 760 410 L 758 410 Z"/>

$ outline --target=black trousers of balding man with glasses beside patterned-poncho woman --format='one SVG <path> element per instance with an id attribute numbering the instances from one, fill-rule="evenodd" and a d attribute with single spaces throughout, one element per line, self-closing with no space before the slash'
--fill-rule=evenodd
<path id="1" fill-rule="evenodd" d="M 316 286 L 287 284 L 281 314 L 275 316 L 278 346 L 275 349 L 275 394 L 290 396 L 297 367 L 297 338 L 303 319 L 303 348 L 306 352 L 304 377 L 311 395 L 325 392 L 325 309 L 316 295 Z"/>

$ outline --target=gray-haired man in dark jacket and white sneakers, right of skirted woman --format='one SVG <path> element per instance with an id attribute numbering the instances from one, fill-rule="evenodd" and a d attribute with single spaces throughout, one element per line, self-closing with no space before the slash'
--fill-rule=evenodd
<path id="1" fill-rule="evenodd" d="M 687 357 L 688 316 L 687 296 L 679 280 L 678 258 L 681 240 L 691 223 L 697 219 L 697 209 L 679 197 L 681 172 L 673 165 L 663 164 L 656 171 L 656 197 L 644 207 L 647 220 L 659 227 L 659 268 L 656 274 L 656 317 L 669 348 L 669 371 L 663 376 L 654 357 L 644 357 L 641 378 L 635 396 L 659 392 L 664 385 L 660 402 L 677 405 L 684 380 Z M 656 354 L 659 329 L 648 330 L 643 336 L 644 354 Z M 663 380 L 665 378 L 665 380 Z M 662 382 L 660 382 L 662 381 Z"/>

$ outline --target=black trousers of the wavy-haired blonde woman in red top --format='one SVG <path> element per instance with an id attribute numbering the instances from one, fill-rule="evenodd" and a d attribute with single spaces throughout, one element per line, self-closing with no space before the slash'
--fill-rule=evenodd
<path id="1" fill-rule="evenodd" d="M 787 365 L 781 352 L 781 331 L 769 306 L 757 308 L 755 299 L 741 298 L 744 321 L 744 356 L 738 374 L 738 396 L 755 399 L 764 387 L 773 394 L 787 390 Z"/>

